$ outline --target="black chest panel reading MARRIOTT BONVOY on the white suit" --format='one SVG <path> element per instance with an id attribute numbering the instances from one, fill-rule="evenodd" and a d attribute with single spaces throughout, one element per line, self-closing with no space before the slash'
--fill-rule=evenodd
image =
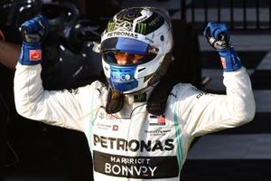
<path id="1" fill-rule="evenodd" d="M 180 169 L 176 156 L 128 157 L 93 152 L 94 170 L 107 176 L 135 179 L 177 177 Z"/>

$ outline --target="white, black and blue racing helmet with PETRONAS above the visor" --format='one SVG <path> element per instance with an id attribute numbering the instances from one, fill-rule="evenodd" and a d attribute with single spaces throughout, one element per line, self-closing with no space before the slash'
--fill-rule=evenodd
<path id="1" fill-rule="evenodd" d="M 172 62 L 173 33 L 169 14 L 154 7 L 132 7 L 117 13 L 102 33 L 100 52 L 109 87 L 123 94 L 159 81 Z M 117 64 L 116 52 L 139 55 L 136 63 Z"/>

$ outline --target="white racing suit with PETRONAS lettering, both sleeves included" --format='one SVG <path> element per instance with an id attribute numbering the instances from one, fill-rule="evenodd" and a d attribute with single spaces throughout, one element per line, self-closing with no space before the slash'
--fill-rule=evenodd
<path id="1" fill-rule="evenodd" d="M 224 72 L 227 95 L 206 93 L 191 84 L 175 85 L 159 117 L 149 114 L 145 99 L 135 99 L 135 95 L 126 95 L 122 110 L 107 114 L 107 87 L 99 81 L 77 90 L 43 90 L 41 71 L 41 65 L 18 63 L 16 109 L 28 119 L 83 131 L 96 181 L 179 181 L 193 138 L 237 127 L 255 115 L 243 67 Z M 146 98 L 150 91 L 146 90 Z"/>

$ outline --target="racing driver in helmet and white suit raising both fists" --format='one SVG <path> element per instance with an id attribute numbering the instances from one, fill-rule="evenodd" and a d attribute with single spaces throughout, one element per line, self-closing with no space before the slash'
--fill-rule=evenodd
<path id="1" fill-rule="evenodd" d="M 225 24 L 209 23 L 204 34 L 220 54 L 227 94 L 177 83 L 158 113 L 148 101 L 173 61 L 166 11 L 132 7 L 115 14 L 95 46 L 102 54 L 107 83 L 93 81 L 76 90 L 43 89 L 41 46 L 47 32 L 42 15 L 21 26 L 23 45 L 14 76 L 16 110 L 28 119 L 83 131 L 96 181 L 178 181 L 193 138 L 254 118 L 249 76 Z"/>

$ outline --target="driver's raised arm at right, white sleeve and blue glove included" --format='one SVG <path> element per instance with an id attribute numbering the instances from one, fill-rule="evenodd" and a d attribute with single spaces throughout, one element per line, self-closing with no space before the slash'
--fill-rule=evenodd
<path id="1" fill-rule="evenodd" d="M 182 90 L 182 98 L 178 102 L 182 128 L 192 136 L 238 127 L 252 120 L 255 115 L 251 82 L 230 43 L 227 26 L 210 23 L 204 35 L 220 54 L 227 93 L 210 94 L 187 85 L 175 89 L 176 94 Z"/>

